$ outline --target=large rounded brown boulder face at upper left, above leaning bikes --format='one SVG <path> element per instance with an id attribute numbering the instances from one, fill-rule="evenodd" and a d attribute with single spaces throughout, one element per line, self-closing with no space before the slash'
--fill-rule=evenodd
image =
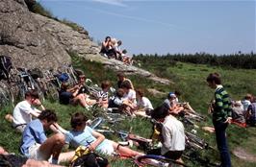
<path id="1" fill-rule="evenodd" d="M 16 66 L 56 68 L 70 57 L 52 36 L 43 31 L 24 0 L 0 1 L 0 53 Z"/>

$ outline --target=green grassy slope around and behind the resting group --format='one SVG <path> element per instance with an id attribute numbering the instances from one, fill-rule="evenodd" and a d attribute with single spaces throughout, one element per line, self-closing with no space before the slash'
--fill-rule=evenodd
<path id="1" fill-rule="evenodd" d="M 86 73 L 86 76 L 92 79 L 93 83 L 100 84 L 100 82 L 104 80 L 110 80 L 115 84 L 116 77 L 115 72 L 111 70 L 103 69 L 103 66 L 96 62 L 84 61 L 80 59 L 73 59 L 73 62 L 76 67 L 83 69 Z M 165 68 L 158 68 L 156 66 L 142 64 L 142 66 L 150 67 L 149 71 L 152 71 L 156 74 L 161 74 L 161 76 L 166 76 L 175 84 L 163 85 L 163 84 L 155 84 L 147 79 L 141 79 L 138 76 L 130 76 L 129 78 L 135 84 L 135 87 L 141 88 L 155 88 L 163 92 L 168 92 L 174 89 L 179 89 L 182 91 L 181 99 L 183 101 L 189 101 L 191 106 L 197 110 L 198 112 L 207 114 L 207 103 L 212 98 L 212 94 L 214 90 L 211 90 L 206 82 L 205 78 L 210 72 L 217 71 L 222 75 L 223 84 L 227 88 L 228 92 L 231 94 L 234 99 L 241 99 L 245 93 L 247 92 L 256 92 L 256 79 L 252 76 L 255 76 L 255 71 L 253 70 L 234 70 L 234 69 L 221 69 L 215 67 L 209 67 L 206 65 L 193 65 L 186 63 L 177 63 L 175 66 L 169 66 L 167 64 L 163 64 Z M 161 104 L 162 100 L 165 97 L 153 97 L 148 92 L 146 92 L 146 96 L 150 98 L 153 102 L 153 106 L 156 107 Z M 66 107 L 61 106 L 58 103 L 49 103 L 45 102 L 44 105 L 49 108 L 54 108 L 59 116 L 60 124 L 69 129 L 69 114 L 75 111 L 85 111 L 82 107 Z M 4 115 L 8 112 L 11 112 L 13 108 L 5 107 L 1 109 L 0 112 L 0 145 L 4 146 L 9 150 L 9 152 L 18 153 L 18 145 L 20 141 L 20 134 L 13 131 L 10 123 L 7 123 L 4 120 Z M 89 111 L 87 112 L 90 115 Z M 210 117 L 206 125 L 211 126 Z M 132 121 L 127 120 L 122 127 L 123 130 L 128 131 L 129 127 L 133 126 L 133 131 L 141 134 L 142 136 L 148 137 L 150 135 L 151 128 L 150 124 L 143 119 L 135 119 Z M 253 137 L 255 135 L 254 129 L 243 130 L 235 126 L 230 126 L 228 130 L 228 139 L 231 150 L 236 146 L 243 146 L 248 152 L 256 154 L 256 150 L 251 147 L 251 143 L 255 143 L 256 139 Z M 205 133 L 203 131 L 198 130 L 204 138 L 215 145 L 215 138 L 212 134 Z M 214 156 L 212 159 L 216 159 L 218 157 Z M 244 162 L 236 158 L 232 155 L 232 161 L 234 166 L 255 166 L 255 164 Z M 130 160 L 126 161 L 115 161 L 113 166 L 131 166 Z"/>

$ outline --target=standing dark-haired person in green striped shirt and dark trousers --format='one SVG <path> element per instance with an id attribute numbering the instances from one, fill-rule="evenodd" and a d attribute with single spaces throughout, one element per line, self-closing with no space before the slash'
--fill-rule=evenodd
<path id="1" fill-rule="evenodd" d="M 232 120 L 231 100 L 227 91 L 221 85 L 220 75 L 211 73 L 206 79 L 208 85 L 215 89 L 215 103 L 212 107 L 213 124 L 216 131 L 218 152 L 221 167 L 230 167 L 231 160 L 226 140 L 226 129 Z"/>

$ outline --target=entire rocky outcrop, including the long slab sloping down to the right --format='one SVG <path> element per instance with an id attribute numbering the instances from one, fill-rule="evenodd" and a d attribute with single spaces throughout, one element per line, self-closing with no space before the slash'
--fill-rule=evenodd
<path id="1" fill-rule="evenodd" d="M 35 0 L 0 1 L 0 55 L 11 56 L 15 66 L 56 69 L 64 63 L 70 63 L 67 53 L 75 52 L 87 60 L 102 62 L 115 71 L 171 84 L 141 68 L 100 56 L 99 46 L 90 40 L 84 28 L 78 26 L 73 30 L 60 21 L 29 12 L 27 7 L 34 3 Z"/>

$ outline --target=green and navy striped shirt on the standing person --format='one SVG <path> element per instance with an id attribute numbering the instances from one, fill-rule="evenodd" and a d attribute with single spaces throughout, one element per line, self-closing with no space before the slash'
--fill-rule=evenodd
<path id="1" fill-rule="evenodd" d="M 222 85 L 218 85 L 215 91 L 215 107 L 213 112 L 213 121 L 225 122 L 227 117 L 231 117 L 231 101 L 228 93 Z"/>

